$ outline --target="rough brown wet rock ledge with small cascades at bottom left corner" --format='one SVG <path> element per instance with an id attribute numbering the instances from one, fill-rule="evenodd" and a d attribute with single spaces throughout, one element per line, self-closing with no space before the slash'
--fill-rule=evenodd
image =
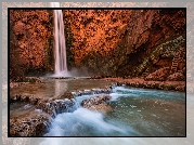
<path id="1" fill-rule="evenodd" d="M 17 96 L 17 97 L 16 97 Z M 11 136 L 42 136 L 51 123 L 51 118 L 66 111 L 75 104 L 74 98 L 43 100 L 34 95 L 16 95 L 15 100 L 29 102 L 35 105 L 35 110 L 10 119 Z"/>

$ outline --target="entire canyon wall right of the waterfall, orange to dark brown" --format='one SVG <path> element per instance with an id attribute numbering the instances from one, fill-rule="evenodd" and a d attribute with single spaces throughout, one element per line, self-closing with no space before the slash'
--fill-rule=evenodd
<path id="1" fill-rule="evenodd" d="M 76 67 L 121 77 L 164 67 L 185 72 L 185 10 L 65 10 L 64 16 Z"/>

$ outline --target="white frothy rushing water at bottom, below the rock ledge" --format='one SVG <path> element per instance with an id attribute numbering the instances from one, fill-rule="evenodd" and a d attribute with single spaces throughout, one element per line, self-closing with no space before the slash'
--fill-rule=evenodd
<path id="1" fill-rule="evenodd" d="M 128 131 L 105 122 L 102 114 L 80 107 L 74 113 L 59 115 L 46 136 L 107 136 L 112 134 L 128 135 Z"/>

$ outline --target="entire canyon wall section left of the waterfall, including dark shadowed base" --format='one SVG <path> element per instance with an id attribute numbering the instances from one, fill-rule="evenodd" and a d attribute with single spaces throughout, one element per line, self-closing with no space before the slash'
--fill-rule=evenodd
<path id="1" fill-rule="evenodd" d="M 10 11 L 10 75 L 21 80 L 53 69 L 53 14 L 50 10 Z"/>

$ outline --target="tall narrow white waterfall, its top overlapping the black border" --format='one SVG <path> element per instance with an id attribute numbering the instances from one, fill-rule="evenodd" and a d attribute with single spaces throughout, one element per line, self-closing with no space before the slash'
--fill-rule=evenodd
<path id="1" fill-rule="evenodd" d="M 51 2 L 52 8 L 60 8 L 60 2 Z M 66 45 L 62 10 L 54 10 L 54 58 L 55 76 L 67 77 Z"/>

